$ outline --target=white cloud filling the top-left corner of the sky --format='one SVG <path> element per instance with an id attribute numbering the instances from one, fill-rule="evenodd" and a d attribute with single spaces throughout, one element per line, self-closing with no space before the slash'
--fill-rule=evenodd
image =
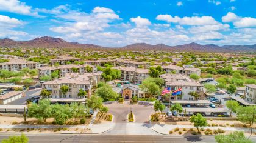
<path id="1" fill-rule="evenodd" d="M 37 15 L 37 12 L 33 12 L 32 7 L 18 0 L 0 0 L 0 10 L 22 15 Z"/>

